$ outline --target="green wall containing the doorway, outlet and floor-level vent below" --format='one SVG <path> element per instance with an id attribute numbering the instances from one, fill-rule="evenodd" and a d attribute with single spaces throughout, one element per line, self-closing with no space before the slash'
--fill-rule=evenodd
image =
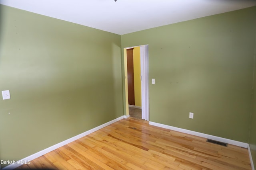
<path id="1" fill-rule="evenodd" d="M 122 49 L 149 45 L 150 121 L 248 143 L 255 11 L 121 35 Z"/>

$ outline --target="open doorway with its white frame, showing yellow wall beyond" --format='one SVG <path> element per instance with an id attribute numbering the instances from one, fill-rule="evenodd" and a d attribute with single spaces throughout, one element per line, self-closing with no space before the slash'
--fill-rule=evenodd
<path id="1" fill-rule="evenodd" d="M 136 76 L 136 74 L 131 73 L 131 71 L 130 71 L 131 68 L 128 68 L 128 65 L 131 65 L 129 63 L 131 63 L 131 61 L 133 61 L 133 59 L 131 59 L 130 56 L 128 56 L 128 55 L 133 55 L 132 53 L 133 53 L 134 48 L 139 49 L 139 55 L 140 55 L 140 59 L 139 59 L 140 60 L 140 62 L 139 62 L 140 63 L 140 68 L 139 68 L 140 75 L 139 75 L 139 78 L 137 77 L 136 79 L 134 79 L 134 75 Z M 135 70 L 135 72 L 138 72 L 138 68 L 135 68 L 135 69 L 137 69 L 137 71 Z M 132 110 L 135 110 L 135 112 L 137 112 L 137 114 L 138 114 L 139 109 L 141 109 L 141 111 L 140 111 L 141 119 L 149 121 L 148 45 L 124 48 L 124 72 L 125 72 L 126 115 L 128 115 L 128 113 L 129 113 L 129 106 L 130 106 L 130 108 Z M 131 78 L 133 78 L 133 80 L 130 80 L 129 81 L 130 83 L 128 85 L 128 79 L 131 79 Z M 135 96 L 137 96 L 137 97 L 135 97 L 135 102 L 133 103 L 132 100 L 133 100 L 134 96 L 133 95 L 129 96 L 128 88 L 130 89 L 130 87 L 128 87 L 128 86 L 133 86 L 132 88 L 134 88 L 134 81 L 136 82 L 136 80 L 140 82 L 140 85 L 139 85 L 140 91 L 138 90 L 138 83 L 136 83 L 135 91 L 137 91 L 137 94 L 135 92 Z M 133 84 L 133 85 L 130 85 L 130 84 Z M 138 91 L 140 94 L 138 94 Z M 131 92 L 131 93 L 133 93 L 133 92 Z M 138 97 L 138 95 L 139 95 L 139 97 Z M 138 106 L 136 106 L 136 105 L 138 105 Z"/>

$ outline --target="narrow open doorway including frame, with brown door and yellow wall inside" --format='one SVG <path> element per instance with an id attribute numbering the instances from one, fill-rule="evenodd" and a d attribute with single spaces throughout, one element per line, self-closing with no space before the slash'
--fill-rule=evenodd
<path id="1" fill-rule="evenodd" d="M 131 58 L 131 56 L 133 57 L 133 52 L 138 53 L 138 50 L 139 50 L 140 59 L 137 58 L 138 56 L 136 56 L 135 59 Z M 139 63 L 139 68 L 138 68 L 138 63 Z M 135 118 L 140 118 L 140 119 L 149 121 L 148 45 L 140 45 L 140 46 L 124 48 L 124 72 L 125 72 L 126 115 L 129 114 L 129 110 L 130 110 L 131 114 L 132 112 L 135 113 L 135 116 L 136 116 Z M 133 89 L 128 90 L 131 88 L 131 86 Z M 133 90 L 134 92 L 132 92 Z M 131 94 L 129 96 L 129 92 L 134 94 Z M 129 114 L 129 116 L 132 117 L 134 115 Z"/>

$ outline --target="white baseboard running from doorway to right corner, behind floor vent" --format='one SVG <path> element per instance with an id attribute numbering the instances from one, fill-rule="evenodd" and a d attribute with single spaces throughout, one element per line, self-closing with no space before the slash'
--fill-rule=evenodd
<path id="1" fill-rule="evenodd" d="M 248 148 L 248 143 L 234 141 L 234 140 L 226 139 L 226 138 L 222 138 L 222 137 L 216 137 L 216 136 L 213 136 L 213 135 L 208 135 L 208 134 L 204 134 L 204 133 L 200 133 L 200 132 L 190 131 L 190 130 L 187 130 L 187 129 L 182 129 L 182 128 L 178 128 L 178 127 L 164 125 L 164 124 L 161 124 L 161 123 L 155 123 L 155 122 L 152 122 L 152 121 L 150 121 L 149 124 L 154 125 L 154 126 L 158 126 L 158 127 L 162 127 L 162 128 L 165 128 L 165 129 L 170 129 L 170 130 L 173 130 L 173 131 L 188 133 L 190 135 L 195 135 L 195 136 L 204 137 L 204 138 L 207 138 L 207 139 L 212 139 L 214 141 L 220 141 L 220 142 L 228 143 L 228 144 L 231 144 L 231 145 L 236 145 L 236 146 L 243 147 L 243 148 Z"/>

